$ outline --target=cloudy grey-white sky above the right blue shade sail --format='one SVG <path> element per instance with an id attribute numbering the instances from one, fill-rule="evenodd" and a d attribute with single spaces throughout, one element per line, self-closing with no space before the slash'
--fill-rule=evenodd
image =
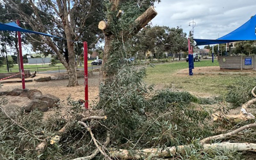
<path id="1" fill-rule="evenodd" d="M 235 30 L 256 14 L 255 0 L 162 0 L 156 4 L 158 15 L 153 25 L 181 26 L 189 33 L 196 22 L 194 37 L 217 39 Z"/>

